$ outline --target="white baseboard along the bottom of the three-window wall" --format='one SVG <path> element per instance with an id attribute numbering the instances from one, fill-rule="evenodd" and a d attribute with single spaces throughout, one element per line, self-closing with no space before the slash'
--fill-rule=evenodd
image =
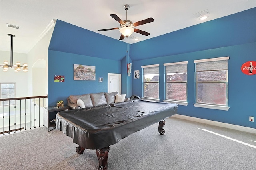
<path id="1" fill-rule="evenodd" d="M 176 118 L 179 118 L 179 119 L 185 119 L 185 120 L 195 121 L 195 122 L 199 122 L 199 123 L 205 123 L 205 124 L 208 124 L 208 125 L 225 127 L 225 128 L 229 128 L 229 129 L 235 129 L 235 130 L 238 130 L 238 131 L 244 131 L 244 132 L 249 132 L 249 133 L 255 133 L 256 134 L 256 129 L 255 128 L 251 128 L 251 127 L 232 125 L 232 124 L 229 124 L 229 123 L 222 123 L 222 122 L 218 122 L 218 121 L 212 121 L 212 120 L 207 120 L 207 119 L 200 119 L 200 118 L 196 118 L 196 117 L 190 117 L 190 116 L 184 116 L 184 115 L 178 115 L 178 114 L 173 115 L 172 117 L 176 117 Z"/>

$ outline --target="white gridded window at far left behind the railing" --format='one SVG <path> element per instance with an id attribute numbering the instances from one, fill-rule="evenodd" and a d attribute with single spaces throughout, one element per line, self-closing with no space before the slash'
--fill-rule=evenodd
<path id="1" fill-rule="evenodd" d="M 0 83 L 1 85 L 1 98 L 7 99 L 7 98 L 15 98 L 15 83 Z M 13 105 L 14 100 L 10 101 L 1 101 L 1 106 L 3 105 Z"/>

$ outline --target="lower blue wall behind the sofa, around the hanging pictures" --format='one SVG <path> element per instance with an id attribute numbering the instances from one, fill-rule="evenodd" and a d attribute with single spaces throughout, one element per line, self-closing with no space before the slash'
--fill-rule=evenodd
<path id="1" fill-rule="evenodd" d="M 48 50 L 48 106 L 56 105 L 71 94 L 108 92 L 108 73 L 121 73 L 121 62 Z M 74 64 L 95 66 L 95 81 L 74 80 Z M 64 75 L 65 82 L 54 82 L 54 75 Z M 103 77 L 103 82 L 99 82 Z"/>

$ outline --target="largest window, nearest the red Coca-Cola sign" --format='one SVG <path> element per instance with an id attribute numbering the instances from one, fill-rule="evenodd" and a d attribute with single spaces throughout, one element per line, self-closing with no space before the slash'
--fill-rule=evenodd
<path id="1" fill-rule="evenodd" d="M 228 59 L 195 60 L 196 107 L 228 110 Z"/>

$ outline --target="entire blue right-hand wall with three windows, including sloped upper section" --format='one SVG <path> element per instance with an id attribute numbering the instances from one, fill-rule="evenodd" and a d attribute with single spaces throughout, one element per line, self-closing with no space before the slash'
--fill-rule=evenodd
<path id="1" fill-rule="evenodd" d="M 246 61 L 256 61 L 255 42 L 256 8 L 252 8 L 132 44 L 130 56 L 133 69 L 140 72 L 142 65 L 160 64 L 160 101 L 164 99 L 163 63 L 188 61 L 188 106 L 180 105 L 179 114 L 256 128 L 248 121 L 249 116 L 256 117 L 256 75 L 247 76 L 240 70 Z M 194 60 L 225 56 L 230 56 L 229 111 L 194 107 Z M 132 92 L 142 96 L 142 75 L 133 79 Z"/>

